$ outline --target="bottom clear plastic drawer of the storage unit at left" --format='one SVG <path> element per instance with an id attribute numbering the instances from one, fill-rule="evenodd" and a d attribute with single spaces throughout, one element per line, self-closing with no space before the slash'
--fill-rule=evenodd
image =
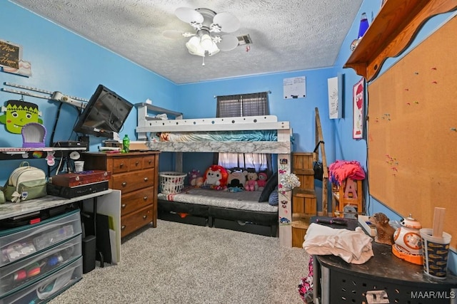
<path id="1" fill-rule="evenodd" d="M 62 291 L 74 285 L 83 277 L 82 256 L 60 271 L 51 274 L 41 281 L 23 288 L 16 293 L 0 298 L 0 304 L 45 303 Z"/>

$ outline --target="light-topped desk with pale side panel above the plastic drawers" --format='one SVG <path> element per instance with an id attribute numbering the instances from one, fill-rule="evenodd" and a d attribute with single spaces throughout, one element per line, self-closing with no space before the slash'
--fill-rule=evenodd
<path id="1" fill-rule="evenodd" d="M 72 199 L 64 199 L 58 196 L 47 195 L 39 199 L 31 199 L 29 201 L 21 201 L 20 203 L 0 204 L 0 220 L 9 219 L 14 216 L 29 214 L 36 211 L 50 209 L 56 206 L 76 203 L 82 201 L 85 211 L 94 210 L 94 198 L 97 198 L 96 211 L 97 214 L 111 216 L 114 222 L 114 230 L 116 231 L 116 253 L 117 261 L 121 261 L 121 191 L 108 189 L 101 192 L 87 194 L 84 196 L 74 197 Z"/>

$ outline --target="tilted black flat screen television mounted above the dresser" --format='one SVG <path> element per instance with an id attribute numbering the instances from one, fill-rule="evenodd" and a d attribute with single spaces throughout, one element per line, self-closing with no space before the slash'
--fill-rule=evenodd
<path id="1" fill-rule="evenodd" d="M 114 132 L 121 131 L 133 107 L 125 98 L 99 85 L 79 115 L 74 132 L 114 138 Z"/>

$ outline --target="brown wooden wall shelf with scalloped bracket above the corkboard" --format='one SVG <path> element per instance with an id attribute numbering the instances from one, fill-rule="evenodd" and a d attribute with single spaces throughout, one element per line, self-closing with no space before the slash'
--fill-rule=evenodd
<path id="1" fill-rule="evenodd" d="M 404 51 L 428 19 L 455 9 L 457 0 L 386 1 L 343 67 L 373 80 L 384 61 Z"/>

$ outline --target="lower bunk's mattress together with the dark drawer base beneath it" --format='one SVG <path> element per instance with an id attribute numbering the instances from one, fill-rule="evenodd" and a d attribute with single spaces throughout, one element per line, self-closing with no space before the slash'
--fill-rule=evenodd
<path id="1" fill-rule="evenodd" d="M 178 221 L 276 236 L 278 206 L 258 202 L 261 192 L 228 192 L 187 188 L 179 194 L 159 193 L 159 214 Z M 181 217 L 180 217 L 181 216 Z"/>

